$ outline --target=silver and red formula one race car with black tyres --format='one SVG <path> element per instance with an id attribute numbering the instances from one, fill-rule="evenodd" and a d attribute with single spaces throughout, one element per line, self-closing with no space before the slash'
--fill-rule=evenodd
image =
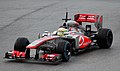
<path id="1" fill-rule="evenodd" d="M 67 16 L 68 12 L 66 12 L 66 19 L 63 19 L 65 23 L 62 29 L 57 30 L 55 34 L 49 33 L 48 35 L 48 32 L 45 32 L 47 34 L 32 43 L 27 38 L 18 38 L 14 50 L 6 52 L 4 58 L 52 63 L 67 62 L 71 54 L 77 54 L 92 46 L 110 48 L 113 34 L 110 29 L 102 28 L 103 17 L 101 15 L 76 14 L 74 21 L 68 19 Z M 87 25 L 83 27 L 84 24 Z M 92 30 L 92 24 L 96 30 Z"/>

